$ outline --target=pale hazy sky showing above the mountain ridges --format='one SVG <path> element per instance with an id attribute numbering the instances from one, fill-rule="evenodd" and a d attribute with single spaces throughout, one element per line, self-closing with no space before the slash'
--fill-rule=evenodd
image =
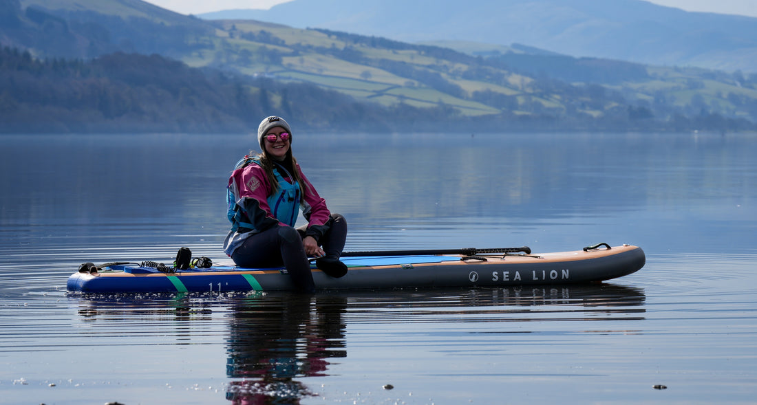
<path id="1" fill-rule="evenodd" d="M 233 8 L 271 8 L 289 0 L 147 0 L 154 5 L 181 14 L 201 14 Z M 412 0 L 411 0 L 412 1 Z M 607 0 L 612 1 L 612 0 Z M 707 11 L 722 14 L 742 14 L 757 17 L 757 0 L 647 0 L 658 5 L 682 8 L 687 11 Z"/>

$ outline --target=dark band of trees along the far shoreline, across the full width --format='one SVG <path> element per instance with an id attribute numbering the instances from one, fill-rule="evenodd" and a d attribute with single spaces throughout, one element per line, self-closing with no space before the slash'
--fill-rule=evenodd
<path id="1" fill-rule="evenodd" d="M 601 86 L 581 91 L 593 98 L 620 97 Z M 385 107 L 307 83 L 192 68 L 160 55 L 117 52 L 84 61 L 0 50 L 0 132 L 6 133 L 254 132 L 270 114 L 301 128 L 362 132 L 755 129 L 747 120 L 706 112 L 660 122 L 646 107 L 624 104 L 595 118 L 579 114 L 581 106 L 557 114 L 534 103 L 534 114 L 524 116 L 507 109 L 515 105 L 513 98 L 485 91 L 473 97 L 505 109 L 481 118 L 444 103 Z"/>

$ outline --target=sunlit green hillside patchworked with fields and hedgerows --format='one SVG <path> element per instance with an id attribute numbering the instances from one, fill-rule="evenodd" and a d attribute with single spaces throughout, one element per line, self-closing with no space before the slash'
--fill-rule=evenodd
<path id="1" fill-rule="evenodd" d="M 135 0 L 22 0 L 21 5 L 149 20 L 156 41 L 171 47 L 170 58 L 190 67 L 310 83 L 385 107 L 451 107 L 469 117 L 585 114 L 622 123 L 631 116 L 669 121 L 716 114 L 757 122 L 757 75 L 739 72 L 529 54 L 534 50 L 517 45 L 419 45 L 253 20 L 206 21 Z M 161 31 L 165 27 L 185 31 Z M 498 60 L 502 55 L 509 59 Z M 533 59 L 525 62 L 531 65 L 509 67 L 516 58 L 527 61 L 524 57 Z M 575 73 L 579 79 L 547 75 L 540 71 L 544 59 L 541 65 L 534 62 L 538 58 L 565 64 L 549 66 L 555 76 Z"/>

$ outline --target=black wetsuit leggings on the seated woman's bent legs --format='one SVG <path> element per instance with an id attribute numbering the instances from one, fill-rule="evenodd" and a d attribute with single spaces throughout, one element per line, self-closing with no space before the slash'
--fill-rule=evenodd
<path id="1" fill-rule="evenodd" d="M 338 259 L 347 239 L 347 221 L 338 213 L 332 213 L 330 227 L 319 244 L 326 257 Z M 302 239 L 306 226 L 294 229 L 291 226 L 274 226 L 257 235 L 245 239 L 245 243 L 235 249 L 232 260 L 237 266 L 251 268 L 284 266 L 291 281 L 299 291 L 315 291 L 310 262 L 307 260 Z"/>

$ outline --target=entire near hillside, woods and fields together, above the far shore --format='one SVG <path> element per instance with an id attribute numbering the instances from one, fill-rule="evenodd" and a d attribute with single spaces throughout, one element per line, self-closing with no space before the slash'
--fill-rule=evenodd
<path id="1" fill-rule="evenodd" d="M 517 44 L 450 42 L 456 51 L 252 20 L 200 20 L 139 0 L 0 5 L 7 6 L 0 7 L 7 22 L 0 44 L 11 60 L 23 55 L 26 66 L 23 74 L 16 62 L 0 72 L 5 132 L 233 132 L 254 130 L 266 114 L 295 114 L 313 129 L 367 131 L 400 124 L 499 132 L 757 128 L 757 74 L 574 58 Z M 149 54 L 163 57 L 143 56 Z M 57 76 L 74 62 L 81 70 Z"/>

